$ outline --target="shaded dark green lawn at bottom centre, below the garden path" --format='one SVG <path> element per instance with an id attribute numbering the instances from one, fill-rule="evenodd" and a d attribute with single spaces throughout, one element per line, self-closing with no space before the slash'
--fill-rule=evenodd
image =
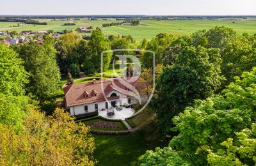
<path id="1" fill-rule="evenodd" d="M 138 158 L 150 147 L 140 135 L 96 135 L 94 158 L 97 165 L 138 165 Z"/>

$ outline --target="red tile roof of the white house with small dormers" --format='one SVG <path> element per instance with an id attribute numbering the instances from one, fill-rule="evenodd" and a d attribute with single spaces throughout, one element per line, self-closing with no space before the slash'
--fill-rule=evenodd
<path id="1" fill-rule="evenodd" d="M 98 80 L 94 84 L 93 82 L 88 82 L 84 84 L 72 84 L 72 86 L 64 87 L 65 102 L 67 103 L 67 107 L 82 105 L 85 103 L 106 101 L 106 99 L 104 98 L 104 93 L 107 95 L 113 90 L 118 91 L 118 89 L 114 88 L 113 84 L 116 84 L 116 86 L 125 90 L 123 81 L 124 80 L 120 81 L 120 79 Z M 130 82 L 130 84 L 134 86 L 136 84 L 136 81 Z M 104 93 L 102 89 L 104 89 Z M 90 96 L 85 97 L 86 93 L 88 93 Z M 97 93 L 97 95 L 93 96 L 93 93 Z M 120 96 L 111 96 L 108 98 L 108 100 L 124 98 L 125 96 L 127 95 L 120 92 Z"/>

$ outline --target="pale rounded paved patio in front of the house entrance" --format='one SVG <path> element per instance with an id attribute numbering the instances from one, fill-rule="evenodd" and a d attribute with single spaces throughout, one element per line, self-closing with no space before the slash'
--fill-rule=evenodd
<path id="1" fill-rule="evenodd" d="M 131 109 L 131 108 L 124 108 L 123 107 L 122 110 L 114 109 L 114 111 L 115 111 L 115 115 L 109 117 L 107 115 L 107 110 L 99 110 L 99 116 L 105 117 L 107 119 L 121 119 L 121 120 L 124 120 L 125 118 L 130 117 L 130 116 L 132 116 L 132 114 L 134 114 L 134 110 Z"/>

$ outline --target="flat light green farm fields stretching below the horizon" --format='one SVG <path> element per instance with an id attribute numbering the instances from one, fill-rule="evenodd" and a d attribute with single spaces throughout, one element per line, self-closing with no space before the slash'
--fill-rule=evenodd
<path id="1" fill-rule="evenodd" d="M 77 27 L 93 26 L 100 27 L 104 34 L 120 34 L 128 35 L 131 34 L 135 40 L 142 40 L 146 38 L 150 40 L 158 33 L 171 33 L 176 35 L 186 35 L 194 33 L 195 31 L 201 29 L 209 29 L 215 26 L 226 26 L 231 27 L 238 33 L 256 33 L 256 20 L 236 20 L 234 23 L 232 20 L 141 20 L 139 26 L 111 26 L 102 27 L 103 23 L 107 22 L 118 22 L 113 19 L 108 20 L 40 20 L 46 21 L 48 25 L 28 25 L 20 24 L 22 27 L 10 27 L 17 26 L 18 22 L 0 22 L 0 31 L 44 31 L 44 30 L 54 30 L 62 31 L 64 29 L 76 29 Z M 76 26 L 63 26 L 63 24 L 68 22 L 76 23 Z M 84 33 L 90 34 L 90 33 Z"/>

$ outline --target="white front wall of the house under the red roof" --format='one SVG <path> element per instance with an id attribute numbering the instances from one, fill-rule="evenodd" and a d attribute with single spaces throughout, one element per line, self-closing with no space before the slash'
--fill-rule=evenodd
<path id="1" fill-rule="evenodd" d="M 120 98 L 120 99 L 116 99 L 116 105 L 119 106 L 120 105 L 120 100 L 122 100 L 122 105 L 124 105 L 124 103 L 128 103 L 128 98 Z M 111 107 L 110 102 L 115 101 L 115 100 L 109 100 L 108 103 L 108 108 Z M 106 101 L 104 102 L 96 102 L 98 104 L 98 110 L 102 110 L 102 109 L 106 109 Z M 89 112 L 95 112 L 95 104 L 96 103 L 88 103 L 88 104 L 83 104 L 83 105 L 75 105 L 75 106 L 71 106 L 69 107 L 70 109 L 70 114 L 71 116 L 76 116 L 79 114 L 86 114 Z M 84 106 L 87 105 L 88 106 L 88 112 L 86 112 L 84 110 Z"/>

